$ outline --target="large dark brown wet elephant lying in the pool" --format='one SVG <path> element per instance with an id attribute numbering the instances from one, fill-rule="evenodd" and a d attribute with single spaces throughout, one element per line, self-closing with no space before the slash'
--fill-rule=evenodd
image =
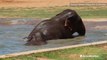
<path id="1" fill-rule="evenodd" d="M 75 32 L 84 36 L 85 26 L 76 11 L 66 9 L 36 25 L 27 37 L 26 45 L 44 45 L 47 40 L 73 38 Z"/>

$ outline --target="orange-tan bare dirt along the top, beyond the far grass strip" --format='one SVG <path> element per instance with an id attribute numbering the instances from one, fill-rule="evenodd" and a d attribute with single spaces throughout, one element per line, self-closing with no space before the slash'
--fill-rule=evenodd
<path id="1" fill-rule="evenodd" d="M 87 2 L 107 3 L 107 0 L 0 0 L 0 7 L 52 7 Z"/>

